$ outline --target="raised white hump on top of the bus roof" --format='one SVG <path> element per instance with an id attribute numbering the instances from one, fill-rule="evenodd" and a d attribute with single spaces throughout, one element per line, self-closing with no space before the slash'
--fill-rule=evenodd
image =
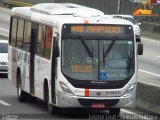
<path id="1" fill-rule="evenodd" d="M 48 15 L 104 15 L 104 13 L 100 10 L 71 3 L 41 3 L 34 5 L 31 8 L 31 11 L 36 11 Z"/>

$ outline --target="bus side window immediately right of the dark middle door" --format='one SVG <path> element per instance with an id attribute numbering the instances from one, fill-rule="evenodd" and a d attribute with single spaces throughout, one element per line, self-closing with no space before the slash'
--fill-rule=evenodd
<path id="1" fill-rule="evenodd" d="M 36 53 L 41 56 L 44 55 L 45 37 L 46 37 L 46 26 L 39 25 Z"/>

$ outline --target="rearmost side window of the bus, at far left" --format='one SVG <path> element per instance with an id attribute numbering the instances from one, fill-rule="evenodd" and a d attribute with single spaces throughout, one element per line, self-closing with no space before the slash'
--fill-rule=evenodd
<path id="1" fill-rule="evenodd" d="M 12 33 L 11 33 L 11 45 L 16 46 L 16 33 L 17 33 L 17 18 L 12 20 Z"/>

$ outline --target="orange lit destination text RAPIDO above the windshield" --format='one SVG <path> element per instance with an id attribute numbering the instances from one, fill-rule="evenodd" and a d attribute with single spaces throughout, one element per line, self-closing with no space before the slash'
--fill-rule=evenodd
<path id="1" fill-rule="evenodd" d="M 73 33 L 123 33 L 119 26 L 71 26 Z"/>

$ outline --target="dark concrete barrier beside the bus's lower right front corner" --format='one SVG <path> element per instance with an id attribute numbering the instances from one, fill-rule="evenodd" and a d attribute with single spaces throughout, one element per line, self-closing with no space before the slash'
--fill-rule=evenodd
<path id="1" fill-rule="evenodd" d="M 148 83 L 137 83 L 136 107 L 160 114 L 160 87 Z"/>

